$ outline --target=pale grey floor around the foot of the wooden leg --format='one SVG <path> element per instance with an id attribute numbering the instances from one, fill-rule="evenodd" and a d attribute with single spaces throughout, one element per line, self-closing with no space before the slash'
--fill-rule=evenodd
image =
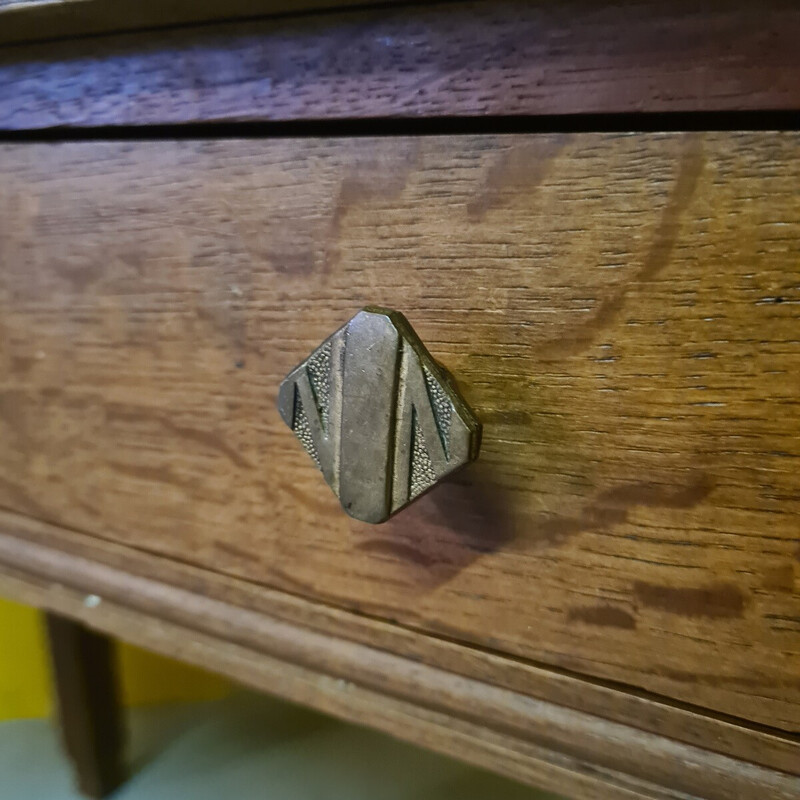
<path id="1" fill-rule="evenodd" d="M 558 800 L 261 695 L 129 714 L 114 800 Z M 0 800 L 78 800 L 47 720 L 0 724 Z"/>

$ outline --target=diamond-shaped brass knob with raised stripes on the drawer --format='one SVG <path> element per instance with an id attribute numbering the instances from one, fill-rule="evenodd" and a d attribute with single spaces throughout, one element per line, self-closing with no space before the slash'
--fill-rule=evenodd
<path id="1" fill-rule="evenodd" d="M 342 508 L 383 522 L 475 459 L 480 423 L 406 318 L 365 308 L 281 383 L 278 409 Z"/>

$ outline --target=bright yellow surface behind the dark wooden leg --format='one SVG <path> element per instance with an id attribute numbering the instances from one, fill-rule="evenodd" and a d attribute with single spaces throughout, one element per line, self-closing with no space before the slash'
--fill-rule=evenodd
<path id="1" fill-rule="evenodd" d="M 203 670 L 122 644 L 125 705 L 215 700 L 230 684 Z M 0 598 L 0 720 L 44 717 L 52 710 L 50 664 L 39 613 Z"/>

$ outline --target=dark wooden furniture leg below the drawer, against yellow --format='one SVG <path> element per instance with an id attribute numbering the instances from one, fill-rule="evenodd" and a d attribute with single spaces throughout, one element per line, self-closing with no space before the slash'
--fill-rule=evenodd
<path id="1" fill-rule="evenodd" d="M 125 772 L 113 642 L 57 614 L 45 619 L 64 749 L 80 791 L 105 797 Z"/>

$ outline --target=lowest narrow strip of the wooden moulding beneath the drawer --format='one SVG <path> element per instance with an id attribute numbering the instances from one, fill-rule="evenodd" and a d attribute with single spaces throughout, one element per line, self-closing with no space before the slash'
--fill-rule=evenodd
<path id="1" fill-rule="evenodd" d="M 33 605 L 69 607 L 79 612 L 78 598 L 58 587 L 42 587 L 0 572 L 0 590 Z M 126 631 L 128 640 L 204 669 L 236 676 L 246 686 L 291 699 L 356 724 L 370 725 L 399 739 L 413 742 L 467 763 L 530 783 L 540 788 L 568 790 L 575 800 L 644 800 L 679 798 L 653 784 L 598 771 L 591 763 L 559 758 L 545 748 L 520 746 L 510 737 L 481 725 L 436 714 L 344 680 L 332 681 L 315 670 L 291 667 L 247 648 L 187 632 L 170 623 L 153 624 L 149 617 L 132 614 L 125 606 L 104 608 L 94 624 L 108 631 Z M 516 745 L 516 746 L 515 746 Z M 520 752 L 522 751 L 522 752 Z M 786 797 L 786 795 L 784 795 Z M 791 795 L 788 795 L 792 800 Z"/>

